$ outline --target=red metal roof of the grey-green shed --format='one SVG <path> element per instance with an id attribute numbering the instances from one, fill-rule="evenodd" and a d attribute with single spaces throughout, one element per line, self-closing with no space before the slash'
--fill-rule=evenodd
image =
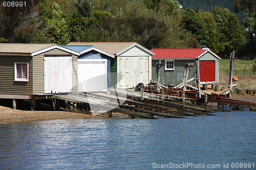
<path id="1" fill-rule="evenodd" d="M 172 59 L 194 59 L 201 57 L 206 53 L 207 49 L 202 48 L 153 48 L 155 53 L 152 58 L 172 58 Z"/>

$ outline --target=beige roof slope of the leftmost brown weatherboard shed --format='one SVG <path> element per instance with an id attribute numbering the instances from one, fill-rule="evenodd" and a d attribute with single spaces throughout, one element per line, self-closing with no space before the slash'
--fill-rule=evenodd
<path id="1" fill-rule="evenodd" d="M 0 43 L 0 53 L 31 54 L 56 44 Z"/>

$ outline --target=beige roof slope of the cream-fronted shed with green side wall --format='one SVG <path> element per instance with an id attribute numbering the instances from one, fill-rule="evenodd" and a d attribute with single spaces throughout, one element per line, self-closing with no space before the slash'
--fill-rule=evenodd
<path id="1" fill-rule="evenodd" d="M 71 42 L 68 45 L 93 45 L 111 54 L 117 54 L 135 42 Z"/>

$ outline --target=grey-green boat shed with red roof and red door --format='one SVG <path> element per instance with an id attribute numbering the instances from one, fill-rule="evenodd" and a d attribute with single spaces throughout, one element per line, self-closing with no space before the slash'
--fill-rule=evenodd
<path id="1" fill-rule="evenodd" d="M 199 59 L 200 82 L 219 83 L 219 60 L 221 59 L 208 48 L 153 48 L 152 79 L 156 81 L 156 64 L 161 60 L 160 83 L 182 83 L 186 63 Z M 191 68 L 188 79 L 195 77 L 195 66 Z"/>

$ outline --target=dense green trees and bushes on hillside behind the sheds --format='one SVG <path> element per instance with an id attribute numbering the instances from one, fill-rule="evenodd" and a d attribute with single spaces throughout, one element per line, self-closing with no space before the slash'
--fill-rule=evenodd
<path id="1" fill-rule="evenodd" d="M 173 0 L 27 0 L 26 7 L 2 4 L 0 42 L 132 41 L 148 49 L 208 47 L 221 57 L 235 50 L 239 58 L 254 58 L 256 10 L 251 3 L 255 1 L 233 0 L 237 11 L 246 9 L 243 23 L 227 8 L 214 7 L 210 12 L 181 9 L 181 1 Z M 215 2 L 207 1 L 211 7 Z"/>

